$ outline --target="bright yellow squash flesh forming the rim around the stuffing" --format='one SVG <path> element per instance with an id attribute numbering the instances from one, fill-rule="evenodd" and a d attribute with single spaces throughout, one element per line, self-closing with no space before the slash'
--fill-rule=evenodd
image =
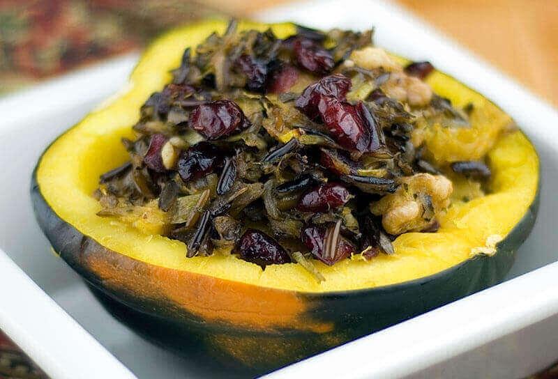
<path id="1" fill-rule="evenodd" d="M 241 28 L 265 29 L 266 26 L 245 23 L 241 24 Z M 230 254 L 217 253 L 210 257 L 187 259 L 182 242 L 161 235 L 146 235 L 114 219 L 96 216 L 100 205 L 91 194 L 98 185 L 97 178 L 100 173 L 126 160 L 126 151 L 120 139 L 133 135 L 131 125 L 137 121 L 140 106 L 153 91 L 158 91 L 169 81 L 169 71 L 179 65 L 187 45 L 195 46 L 212 31 L 222 32 L 224 29 L 224 22 L 204 22 L 172 31 L 160 38 L 137 65 L 126 93 L 107 107 L 93 111 L 52 144 L 39 164 L 37 180 L 40 192 L 61 219 L 108 249 L 153 265 L 256 286 L 325 292 L 399 283 L 456 265 L 469 258 L 474 248 L 484 247 L 490 236 L 504 237 L 534 200 L 538 185 L 538 158 L 527 138 L 516 131 L 497 140 L 496 135 L 508 123 L 508 116 L 481 95 L 435 72 L 428 79 L 435 92 L 451 98 L 458 106 L 474 102 L 480 118 L 474 121 L 472 129 L 460 130 L 462 140 L 446 146 L 447 156 L 473 157 L 477 149 L 488 151 L 497 140 L 489 153 L 493 193 L 469 203 L 455 203 L 442 219 L 442 228 L 437 233 L 400 235 L 394 242 L 394 256 L 381 255 L 368 262 L 355 257 L 332 267 L 316 262 L 326 278 L 322 284 L 317 284 L 308 272 L 296 264 L 271 265 L 262 271 L 259 266 Z M 285 37 L 294 32 L 294 26 L 278 24 L 273 26 L 273 30 L 278 36 Z M 483 131 L 487 127 L 488 134 L 478 137 L 478 130 Z M 473 145 L 460 143 L 476 139 L 481 145 L 474 148 L 471 147 Z M 432 141 L 438 139 L 433 138 Z M 438 145 L 432 142 L 431 146 Z M 433 152 L 442 150 L 432 148 Z M 443 156 L 437 159 L 449 158 Z"/>

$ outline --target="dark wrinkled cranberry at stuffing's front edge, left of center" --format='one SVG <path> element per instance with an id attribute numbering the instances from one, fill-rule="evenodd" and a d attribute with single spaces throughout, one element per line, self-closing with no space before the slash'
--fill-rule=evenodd
<path id="1" fill-rule="evenodd" d="M 236 245 L 236 252 L 247 262 L 266 265 L 290 263 L 289 254 L 269 235 L 255 229 L 248 229 Z"/>

